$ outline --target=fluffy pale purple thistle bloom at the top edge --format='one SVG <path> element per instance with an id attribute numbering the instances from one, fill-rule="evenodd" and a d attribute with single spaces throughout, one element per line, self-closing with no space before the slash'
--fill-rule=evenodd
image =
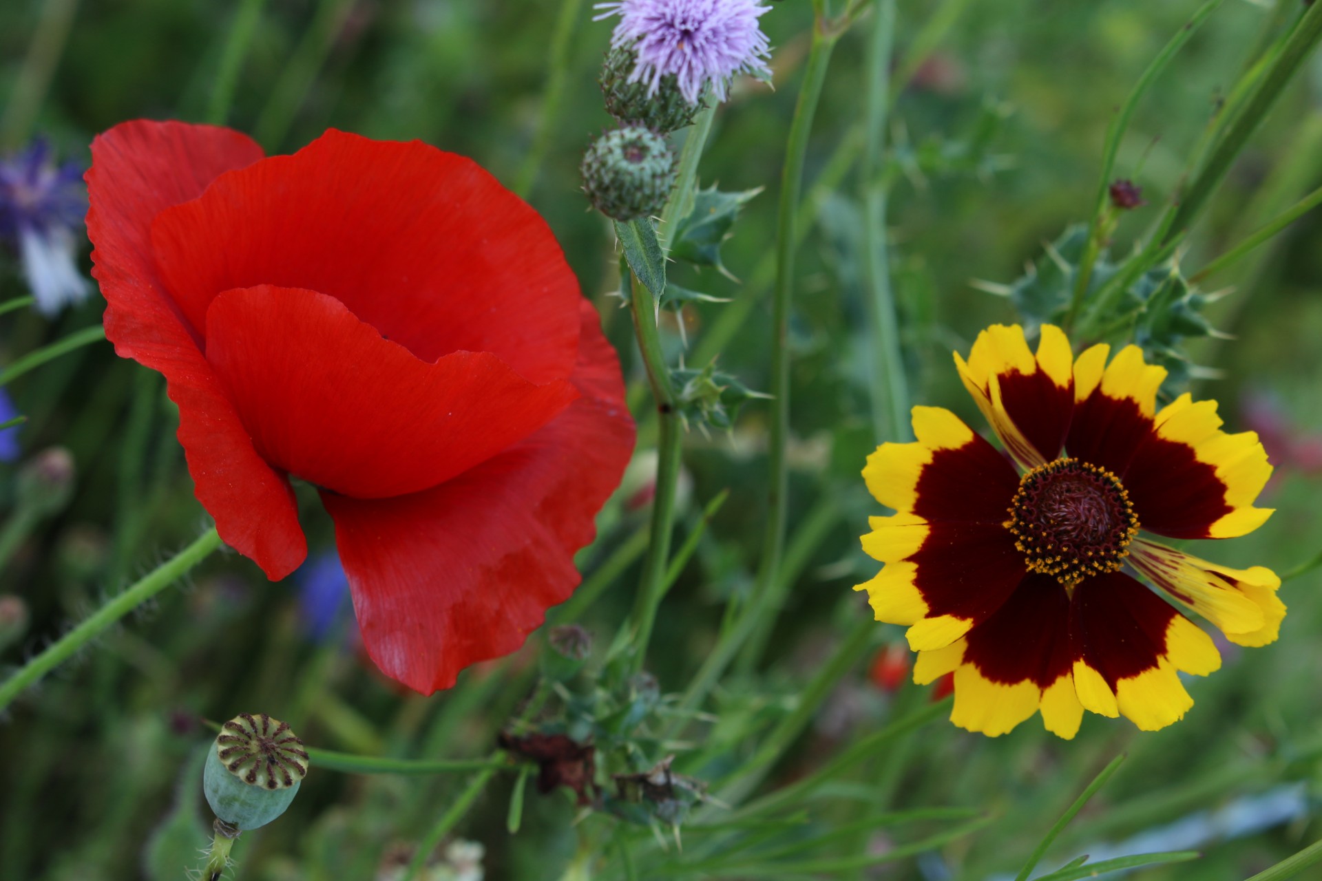
<path id="1" fill-rule="evenodd" d="M 595 8 L 604 9 L 598 21 L 620 16 L 611 45 L 637 52 L 629 82 L 646 82 L 649 96 L 666 74 L 674 74 L 683 99 L 697 104 L 709 82 L 724 100 L 735 74 L 771 73 L 764 62 L 771 44 L 758 26 L 771 7 L 759 0 L 617 0 Z"/>

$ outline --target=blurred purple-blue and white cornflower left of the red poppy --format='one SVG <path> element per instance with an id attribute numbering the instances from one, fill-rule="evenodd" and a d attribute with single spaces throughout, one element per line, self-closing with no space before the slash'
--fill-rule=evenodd
<path id="1" fill-rule="evenodd" d="M 77 162 L 57 166 L 50 145 L 32 147 L 0 161 L 0 238 L 19 251 L 37 309 L 53 316 L 82 301 L 91 287 L 77 255 L 87 192 Z"/>

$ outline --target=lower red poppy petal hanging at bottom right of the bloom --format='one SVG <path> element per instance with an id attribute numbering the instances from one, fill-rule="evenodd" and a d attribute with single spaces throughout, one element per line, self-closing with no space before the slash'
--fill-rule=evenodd
<path id="1" fill-rule="evenodd" d="M 368 652 L 416 691 L 514 651 L 579 582 L 574 552 L 633 449 L 619 361 L 582 314 L 571 382 L 583 396 L 539 432 L 424 493 L 321 494 Z"/>

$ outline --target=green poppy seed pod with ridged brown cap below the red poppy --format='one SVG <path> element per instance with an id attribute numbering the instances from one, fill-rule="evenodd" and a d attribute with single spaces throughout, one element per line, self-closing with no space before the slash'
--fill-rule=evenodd
<path id="1" fill-rule="evenodd" d="M 303 741 L 266 713 L 239 713 L 222 728 L 202 769 L 206 802 L 241 831 L 266 826 L 284 814 L 308 773 Z"/>

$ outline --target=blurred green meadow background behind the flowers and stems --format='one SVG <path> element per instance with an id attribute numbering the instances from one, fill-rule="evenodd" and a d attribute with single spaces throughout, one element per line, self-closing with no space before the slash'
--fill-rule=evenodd
<path id="1" fill-rule="evenodd" d="M 1286 3 L 1290 9 L 1297 3 Z M 91 137 L 139 116 L 201 120 L 234 21 L 237 3 L 217 0 L 40 0 L 0 3 L 0 100 L 9 100 L 38 22 L 69 7 L 71 25 L 30 133 L 61 156 L 87 160 Z M 475 157 L 509 182 L 529 155 L 542 111 L 549 34 L 559 4 L 547 0 L 268 0 L 234 92 L 229 124 L 268 152 L 290 152 L 327 127 L 382 139 L 422 139 Z M 904 321 L 906 357 L 917 403 L 977 416 L 952 369 L 977 330 L 1013 320 L 1009 304 L 972 280 L 1011 281 L 1068 223 L 1087 219 L 1105 127 L 1142 69 L 1196 7 L 1191 0 L 902 0 L 902 59 L 935 11 L 960 15 L 899 98 L 892 125 L 891 259 Z M 1233 83 L 1273 3 L 1228 0 L 1140 106 L 1118 170 L 1144 188 L 1147 207 L 1126 215 L 1114 239 L 1125 252 L 1179 182 L 1188 151 L 1218 96 Z M 806 49 L 810 9 L 785 0 L 763 18 L 772 38 L 775 88 L 740 81 L 715 123 L 702 182 L 724 190 L 765 186 L 726 246 L 743 281 L 677 268 L 685 287 L 751 305 L 720 366 L 752 388 L 768 384 L 767 265 L 784 140 Z M 632 380 L 641 376 L 627 314 L 609 295 L 617 273 L 607 225 L 587 210 L 578 161 L 609 119 L 596 69 L 609 22 L 580 4 L 566 100 L 551 129 L 530 201 L 559 236 L 587 296 L 602 308 Z M 862 33 L 833 59 L 809 152 L 809 182 L 850 143 L 862 112 Z M 9 148 L 17 144 L 9 144 Z M 847 168 L 847 166 L 845 166 Z M 1253 139 L 1218 193 L 1183 264 L 1194 271 L 1306 192 L 1322 184 L 1322 63 L 1310 63 Z M 792 535 L 802 542 L 801 575 L 771 634 L 764 660 L 726 684 L 728 712 L 775 712 L 838 639 L 842 622 L 869 614 L 850 588 L 875 564 L 858 548 L 866 515 L 878 514 L 857 474 L 873 439 L 866 384 L 853 172 L 839 186 L 812 190 L 796 284 Z M 1222 371 L 1199 380 L 1198 396 L 1222 403 L 1229 428 L 1256 428 L 1277 462 L 1268 489 L 1276 516 L 1252 536 L 1207 547 L 1214 560 L 1266 564 L 1278 572 L 1319 549 L 1322 511 L 1322 219 L 1305 217 L 1272 246 L 1210 279 L 1233 291 L 1212 308 L 1232 338 L 1195 350 Z M 12 255 L 0 293 L 25 293 Z M 86 265 L 86 263 L 85 263 Z M 761 268 L 759 268 L 761 267 Z M 690 357 L 703 333 L 738 304 L 685 313 Z M 94 296 L 57 321 L 29 312 L 0 320 L 0 362 L 99 321 Z M 676 358 L 678 334 L 668 333 Z M 693 365 L 701 366 L 701 365 Z M 0 662 L 25 652 L 189 540 L 205 515 L 192 498 L 173 441 L 171 405 L 159 376 L 116 359 L 106 343 L 29 374 L 9 390 L 29 416 L 25 456 L 67 446 L 77 465 L 67 507 L 44 520 L 0 573 L 0 592 L 30 610 L 26 634 Z M 645 408 L 644 408 L 645 409 Z M 681 528 L 722 489 L 731 498 L 703 536 L 694 561 L 662 606 L 650 670 L 662 689 L 683 686 L 703 659 L 722 605 L 747 588 L 756 567 L 764 494 L 763 424 L 756 402 L 732 436 L 690 433 L 690 507 Z M 648 436 L 644 432 L 642 444 Z M 0 466 L 0 511 L 13 507 L 15 465 Z M 311 495 L 304 523 L 315 547 L 330 547 L 329 522 Z M 591 571 L 644 523 L 617 505 L 602 539 L 582 557 Z M 599 643 L 632 602 L 625 571 L 583 622 Z M 485 754 L 525 697 L 535 652 L 484 666 L 449 695 L 405 695 L 333 639 L 312 638 L 299 608 L 297 579 L 268 584 L 250 561 L 209 561 L 185 592 L 130 619 L 81 659 L 49 678 L 0 724 L 0 878 L 181 877 L 167 845 L 198 812 L 190 757 L 209 734 L 197 715 L 239 711 L 291 721 L 308 742 L 415 757 Z M 1322 601 L 1318 573 L 1290 580 L 1280 641 L 1225 652 L 1225 666 L 1190 683 L 1196 704 L 1179 724 L 1141 734 L 1126 721 L 1089 716 L 1072 742 L 1036 719 L 988 740 L 939 722 L 904 746 L 895 803 L 972 806 L 995 815 L 981 832 L 919 860 L 858 877 L 966 878 L 1011 873 L 1092 774 L 1118 752 L 1129 759 L 1052 851 L 1044 866 L 1161 828 L 1190 812 L 1302 785 L 1315 806 L 1322 769 Z M 878 625 L 879 639 L 900 639 Z M 896 700 L 859 668 L 783 778 L 820 761 L 879 724 Z M 777 703 L 779 701 L 779 703 Z M 873 763 L 855 783 L 884 773 Z M 290 812 L 246 836 L 241 878 L 391 877 L 401 843 L 416 841 L 451 803 L 453 778 L 311 777 Z M 529 794 L 524 829 L 505 831 L 509 781 L 490 787 L 459 832 L 486 848 L 486 877 L 558 877 L 575 837 L 574 808 L 559 794 Z M 841 819 L 847 808 L 836 808 Z M 173 824 L 173 826 L 171 826 Z M 171 831 L 173 829 L 173 831 Z M 865 840 L 890 847 L 891 832 Z M 899 833 L 895 833 L 899 835 Z M 1144 881 L 1235 881 L 1322 835 L 1307 810 L 1288 823 L 1231 841 L 1212 841 L 1198 863 L 1136 873 Z M 173 836 L 173 837 L 172 837 Z M 201 847 L 201 840 L 196 847 Z M 1177 841 L 1166 848 L 1182 847 Z M 1059 857 L 1059 859 L 1058 859 Z M 180 859 L 192 860 L 186 852 Z M 173 863 L 171 860 L 175 860 Z M 726 876 L 720 876 L 726 877 Z M 734 877 L 734 876 L 731 876 Z"/>

